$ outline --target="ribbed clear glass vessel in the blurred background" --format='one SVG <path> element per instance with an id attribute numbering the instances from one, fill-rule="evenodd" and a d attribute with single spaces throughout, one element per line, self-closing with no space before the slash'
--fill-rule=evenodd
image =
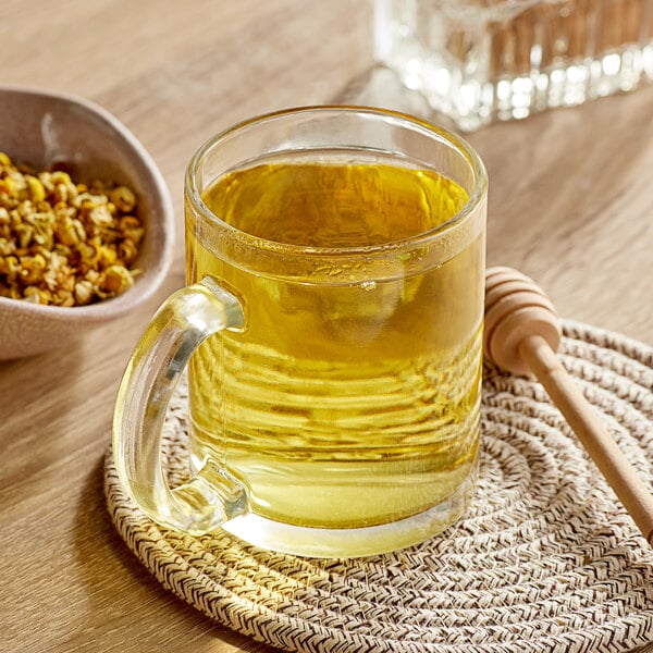
<path id="1" fill-rule="evenodd" d="M 458 128 L 653 79 L 650 0 L 375 0 L 379 61 Z"/>

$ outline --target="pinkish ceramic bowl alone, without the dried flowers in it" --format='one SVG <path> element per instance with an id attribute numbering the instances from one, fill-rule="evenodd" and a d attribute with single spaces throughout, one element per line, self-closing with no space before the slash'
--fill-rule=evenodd
<path id="1" fill-rule="evenodd" d="M 130 186 L 146 225 L 136 263 L 143 272 L 116 297 L 70 308 L 0 297 L 0 359 L 67 344 L 120 319 L 152 295 L 172 259 L 172 202 L 156 163 L 119 120 L 82 98 L 0 86 L 0 151 L 39 170 L 63 164 L 74 181 L 100 178 Z"/>

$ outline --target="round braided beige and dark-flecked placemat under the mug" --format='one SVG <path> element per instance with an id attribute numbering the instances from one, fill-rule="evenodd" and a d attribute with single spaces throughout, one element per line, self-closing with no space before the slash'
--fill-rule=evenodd
<path id="1" fill-rule="evenodd" d="M 653 348 L 564 322 L 560 358 L 653 488 Z M 164 460 L 186 472 L 186 387 Z M 106 461 L 121 535 L 169 590 L 211 619 L 286 651 L 619 653 L 653 642 L 653 550 L 541 385 L 488 368 L 471 508 L 394 554 L 299 558 L 229 533 L 152 523 Z M 653 650 L 646 648 L 646 650 Z"/>

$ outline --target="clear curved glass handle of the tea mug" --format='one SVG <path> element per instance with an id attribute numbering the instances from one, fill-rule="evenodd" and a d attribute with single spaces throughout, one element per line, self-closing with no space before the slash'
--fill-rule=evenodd
<path id="1" fill-rule="evenodd" d="M 132 498 L 158 523 L 204 534 L 248 512 L 245 485 L 214 460 L 174 490 L 161 468 L 167 408 L 192 354 L 209 335 L 244 324 L 238 299 L 205 278 L 165 299 L 127 364 L 113 416 L 113 457 Z"/>

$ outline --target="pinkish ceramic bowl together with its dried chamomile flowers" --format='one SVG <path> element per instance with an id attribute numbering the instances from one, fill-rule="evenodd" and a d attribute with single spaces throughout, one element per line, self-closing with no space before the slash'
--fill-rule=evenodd
<path id="1" fill-rule="evenodd" d="M 0 86 L 0 360 L 141 308 L 175 230 L 165 181 L 134 134 L 84 98 Z"/>

